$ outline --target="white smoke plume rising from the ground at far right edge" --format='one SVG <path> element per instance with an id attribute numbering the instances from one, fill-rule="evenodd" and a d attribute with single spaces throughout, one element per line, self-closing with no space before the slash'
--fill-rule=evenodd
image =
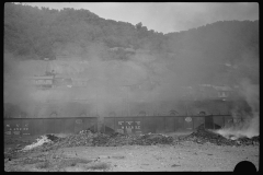
<path id="1" fill-rule="evenodd" d="M 238 93 L 241 97 L 231 110 L 233 124 L 216 131 L 232 139 L 259 136 L 260 130 L 259 54 L 248 48 L 241 56 L 232 62 L 232 69 L 228 72 L 230 81 L 239 82 Z"/>

